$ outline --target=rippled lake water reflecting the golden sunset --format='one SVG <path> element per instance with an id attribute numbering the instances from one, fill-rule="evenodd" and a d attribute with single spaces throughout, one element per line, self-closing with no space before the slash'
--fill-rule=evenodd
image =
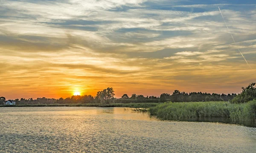
<path id="1" fill-rule="evenodd" d="M 256 128 L 161 121 L 131 108 L 0 108 L 0 152 L 255 153 Z"/>

